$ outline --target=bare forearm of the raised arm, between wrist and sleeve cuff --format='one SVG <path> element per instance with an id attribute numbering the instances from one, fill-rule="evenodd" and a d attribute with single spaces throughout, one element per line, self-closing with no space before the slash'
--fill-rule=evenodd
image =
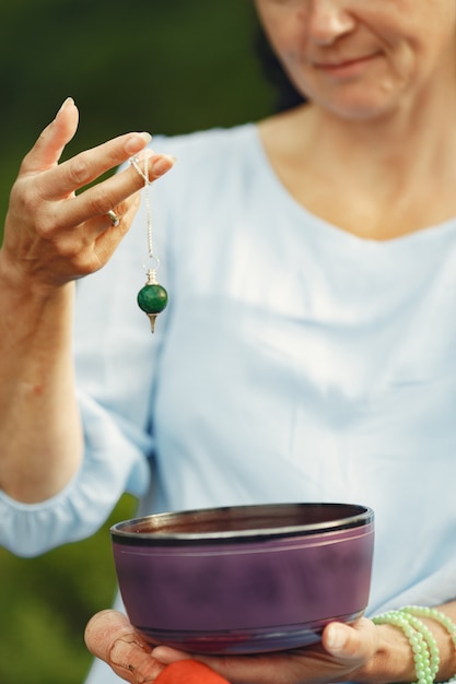
<path id="1" fill-rule="evenodd" d="M 73 283 L 17 284 L 0 252 L 0 488 L 24 503 L 60 491 L 79 468 L 82 432 L 71 352 Z"/>

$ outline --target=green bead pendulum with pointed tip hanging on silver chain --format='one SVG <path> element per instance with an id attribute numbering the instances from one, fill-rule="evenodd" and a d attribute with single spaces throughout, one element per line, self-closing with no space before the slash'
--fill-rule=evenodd
<path id="1" fill-rule="evenodd" d="M 160 264 L 160 260 L 153 253 L 153 245 L 152 245 L 152 217 L 151 217 L 151 207 L 150 207 L 150 197 L 149 197 L 149 157 L 144 157 L 144 170 L 139 166 L 138 157 L 133 157 L 130 160 L 131 166 L 141 176 L 144 180 L 144 194 L 145 194 L 145 215 L 148 221 L 148 247 L 149 247 L 149 261 L 150 263 L 154 263 L 155 268 L 151 267 L 147 269 L 147 281 L 145 285 L 141 287 L 138 293 L 138 306 L 140 309 L 147 314 L 150 323 L 151 323 L 151 332 L 155 332 L 155 320 L 156 317 L 167 305 L 167 292 L 160 285 L 156 280 L 156 268 Z"/>

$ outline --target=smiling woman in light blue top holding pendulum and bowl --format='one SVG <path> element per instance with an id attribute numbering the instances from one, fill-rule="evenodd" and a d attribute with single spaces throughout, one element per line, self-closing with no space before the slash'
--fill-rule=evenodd
<path id="1" fill-rule="evenodd" d="M 77 129 L 68 101 L 22 165 L 0 252 L 1 543 L 25 554 L 80 539 L 124 491 L 140 514 L 365 503 L 366 617 L 328 625 L 317 647 L 207 662 L 244 683 L 444 681 L 456 673 L 456 3 L 255 4 L 305 102 L 154 143 L 151 180 L 174 167 L 151 189 L 169 293 L 153 337 L 131 304 L 144 162 L 75 196 L 148 135 L 59 165 Z M 144 650 L 117 612 L 86 639 L 112 665 L 91 684 L 153 681 L 183 657 Z"/>

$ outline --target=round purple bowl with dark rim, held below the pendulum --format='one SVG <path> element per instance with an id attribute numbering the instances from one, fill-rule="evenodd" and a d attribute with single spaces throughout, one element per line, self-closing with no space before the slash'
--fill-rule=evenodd
<path id="1" fill-rule="evenodd" d="M 151 645 L 256 653 L 318 641 L 369 600 L 374 514 L 273 504 L 159 514 L 110 528 L 121 597 Z"/>

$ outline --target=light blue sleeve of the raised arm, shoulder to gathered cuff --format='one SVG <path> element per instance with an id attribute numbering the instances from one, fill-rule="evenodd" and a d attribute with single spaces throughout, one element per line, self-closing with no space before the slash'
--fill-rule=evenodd
<path id="1" fill-rule="evenodd" d="M 152 187 L 155 197 L 165 179 Z M 159 209 L 155 250 L 163 256 L 160 280 L 168 288 L 164 220 L 157 214 Z M 0 492 L 0 544 L 16 555 L 38 555 L 91 535 L 124 492 L 141 497 L 151 486 L 154 387 L 172 305 L 160 314 L 152 335 L 137 304 L 145 282 L 145 255 L 141 207 L 109 263 L 78 282 L 73 343 L 83 462 L 72 481 L 48 500 L 23 504 Z"/>

